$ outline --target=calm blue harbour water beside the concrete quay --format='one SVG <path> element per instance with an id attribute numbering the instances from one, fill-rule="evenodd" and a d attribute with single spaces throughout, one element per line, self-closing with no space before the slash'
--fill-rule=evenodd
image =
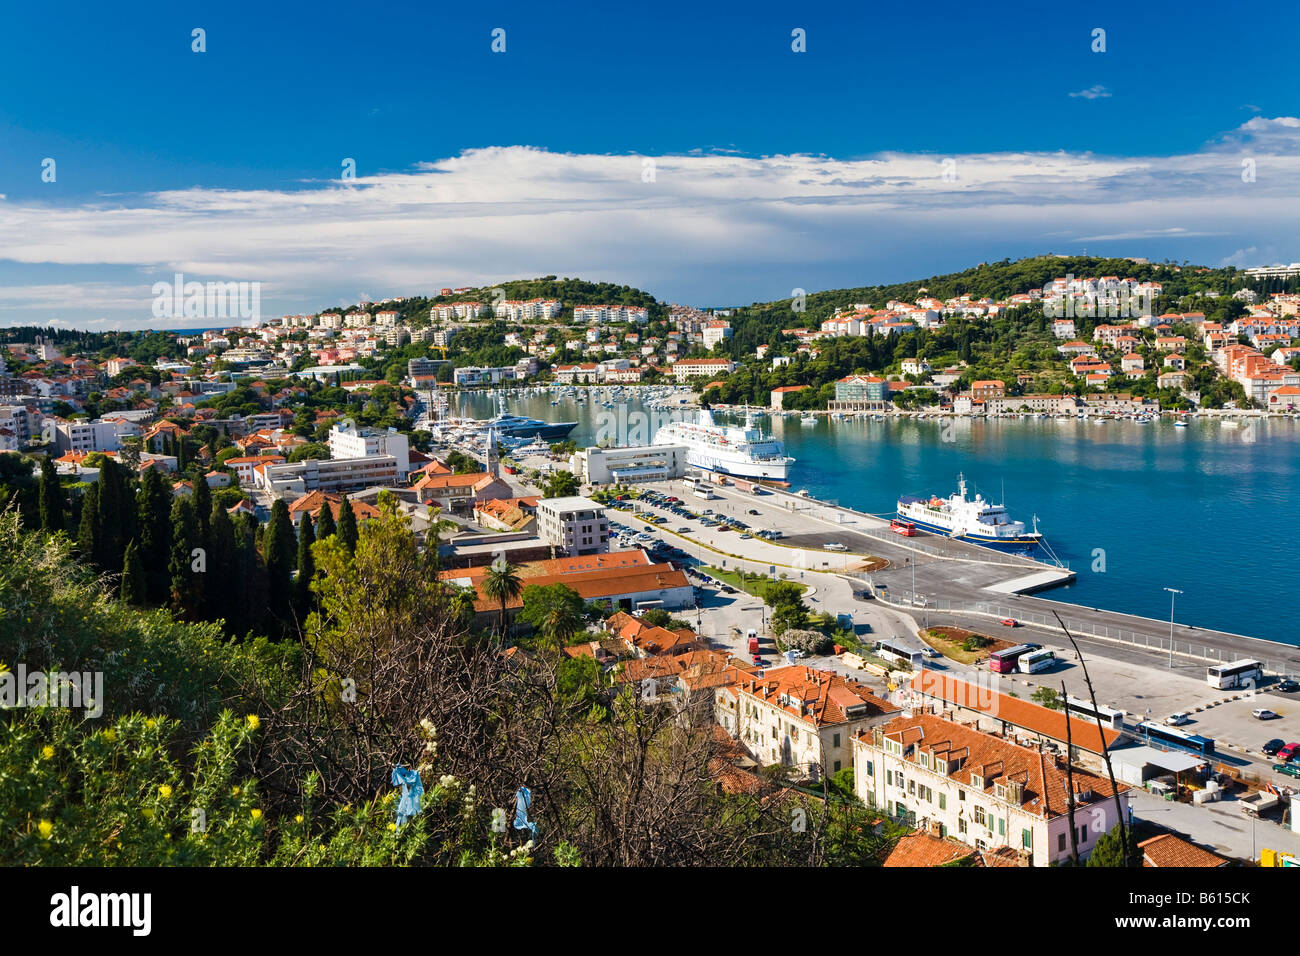
<path id="1" fill-rule="evenodd" d="M 511 398 L 510 408 L 577 420 L 578 442 L 594 440 L 610 414 L 550 402 Z M 474 395 L 464 410 L 489 415 L 491 401 Z M 632 403 L 629 414 L 640 410 Z M 971 493 L 1005 501 L 1014 518 L 1037 515 L 1079 575 L 1045 597 L 1167 619 L 1164 588 L 1178 588 L 1180 623 L 1300 644 L 1300 423 L 760 421 L 797 459 L 792 488 L 818 498 L 889 514 L 900 494 L 954 493 L 965 473 Z"/>

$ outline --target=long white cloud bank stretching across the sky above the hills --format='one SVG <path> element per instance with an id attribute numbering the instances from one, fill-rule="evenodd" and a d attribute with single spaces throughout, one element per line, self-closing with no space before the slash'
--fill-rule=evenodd
<path id="1" fill-rule="evenodd" d="M 269 315 L 351 302 L 358 289 L 422 294 L 551 273 L 725 304 L 1084 242 L 1140 243 L 1106 250 L 1119 255 L 1216 261 L 1257 246 L 1287 258 L 1297 147 L 1300 120 L 1256 116 L 1176 156 L 957 155 L 953 182 L 945 156 L 716 151 L 656 156 L 644 182 L 637 155 L 514 146 L 292 190 L 0 202 L 0 259 L 58 277 L 0 286 L 0 308 L 9 321 L 148 325 L 151 285 L 174 272 L 260 281 Z M 1245 155 L 1252 183 L 1240 178 Z"/>

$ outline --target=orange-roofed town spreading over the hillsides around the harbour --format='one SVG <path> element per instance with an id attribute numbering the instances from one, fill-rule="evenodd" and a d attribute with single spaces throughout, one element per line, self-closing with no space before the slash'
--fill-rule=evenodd
<path id="1" fill-rule="evenodd" d="M 904 606 L 872 576 L 923 553 L 907 549 L 940 546 L 907 544 L 911 525 L 889 524 L 898 536 L 887 542 L 870 531 L 875 538 L 848 545 L 824 535 L 820 549 L 790 541 L 800 509 L 824 503 L 801 501 L 783 481 L 708 475 L 672 436 L 580 447 L 566 437 L 575 423 L 508 415 L 504 395 L 599 389 L 592 402 L 608 407 L 620 390 L 642 389 L 694 406 L 750 367 L 798 371 L 846 339 L 888 342 L 1028 310 L 1054 343 L 1049 365 L 984 378 L 974 359 L 889 352 L 875 372 L 826 382 L 824 411 L 893 414 L 926 393 L 926 406 L 952 415 L 1150 416 L 1162 402 L 1127 384 L 1154 380 L 1195 407 L 1200 372 L 1240 386 L 1242 411 L 1291 414 L 1300 295 L 1257 303 L 1242 290 L 1232 298 L 1244 313 L 1227 323 L 1200 312 L 1112 320 L 1158 299 L 1160 284 L 1070 276 L 1004 299 L 848 304 L 816 328 L 783 328 L 780 347 L 736 356 L 728 349 L 745 325 L 729 310 L 481 291 L 150 333 L 153 355 L 130 354 L 143 339 L 109 355 L 42 336 L 10 342 L 0 376 L 6 494 L 38 527 L 66 529 L 127 604 L 276 637 L 316 606 L 322 538 L 347 537 L 355 549 L 368 528 L 399 522 L 436 562 L 437 585 L 460 596 L 465 626 L 495 633 L 512 667 L 538 666 L 545 635 L 586 669 L 593 701 L 612 706 L 632 693 L 675 726 L 707 728 L 720 792 L 763 801 L 835 793 L 878 814 L 883 866 L 1053 866 L 1122 852 L 1144 866 L 1261 861 L 1256 848 L 1219 838 L 1209 803 L 1231 793 L 1243 808 L 1264 797 L 1294 808 L 1294 790 L 1277 777 L 1288 765 L 1265 758 L 1251 774 L 1230 771 L 1213 748 L 1190 757 L 1176 740 L 1153 745 L 1152 731 L 1138 730 L 1149 722 L 1126 723 L 1123 711 L 1102 726 L 1106 709 L 1095 702 L 1065 705 L 1046 687 L 1026 700 L 1011 683 L 989 684 L 982 667 L 1041 645 L 968 630 L 965 650 L 937 650 L 937 632 L 916 620 L 915 578 Z M 489 355 L 508 363 L 476 362 Z M 798 397 L 812 388 L 774 388 L 771 411 L 807 414 Z M 497 418 L 451 411 L 448 397 L 482 392 L 502 401 Z M 741 444 L 759 442 L 755 434 Z M 114 524 L 124 493 L 142 502 L 140 533 L 152 527 L 164 546 L 136 550 L 130 522 Z M 844 523 L 841 514 L 836 527 Z M 174 557 L 207 553 L 218 527 L 233 529 L 226 568 L 243 568 L 230 594 L 213 591 L 220 575 Z M 1013 594 L 1045 587 L 1044 575 L 1072 576 L 1034 562 L 988 564 L 970 546 L 946 557 L 1006 572 Z M 1032 587 L 1026 568 L 1037 575 Z M 812 591 L 816 611 L 805 600 Z M 751 598 L 759 602 L 741 606 Z M 864 627 L 862 602 L 876 615 Z M 745 614 L 755 610 L 750 627 Z M 1144 816 L 1152 793 L 1195 808 L 1191 823 Z M 1270 839 L 1270 861 L 1294 858 L 1290 836 Z"/>

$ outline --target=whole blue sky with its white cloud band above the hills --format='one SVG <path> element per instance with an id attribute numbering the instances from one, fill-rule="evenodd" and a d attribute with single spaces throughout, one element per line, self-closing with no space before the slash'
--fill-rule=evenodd
<path id="1" fill-rule="evenodd" d="M 176 271 L 278 313 L 520 274 L 728 304 L 1043 251 L 1300 259 L 1270 48 L 1300 7 L 876 7 L 22 5 L 0 323 L 151 324 Z"/>

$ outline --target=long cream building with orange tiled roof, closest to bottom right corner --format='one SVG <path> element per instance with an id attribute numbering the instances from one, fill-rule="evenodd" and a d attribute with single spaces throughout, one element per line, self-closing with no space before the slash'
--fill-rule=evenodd
<path id="1" fill-rule="evenodd" d="M 1035 866 L 1070 857 L 1069 777 L 1052 754 L 931 714 L 874 727 L 853 749 L 854 788 L 868 806 L 976 849 L 1011 847 Z M 1128 788 L 1118 784 L 1117 812 L 1105 777 L 1071 774 L 1075 840 L 1087 857 L 1121 813 L 1127 818 Z"/>

